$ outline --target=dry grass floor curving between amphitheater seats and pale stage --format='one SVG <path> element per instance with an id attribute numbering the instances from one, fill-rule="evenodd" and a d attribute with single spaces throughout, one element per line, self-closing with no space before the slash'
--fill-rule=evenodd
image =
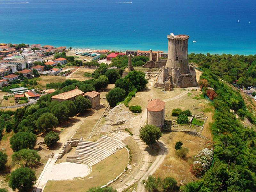
<path id="1" fill-rule="evenodd" d="M 105 185 L 119 175 L 128 163 L 128 153 L 125 148 L 92 166 L 92 172 L 84 179 L 67 181 L 48 181 L 45 192 L 84 192 L 91 187 Z M 89 177 L 93 177 L 89 179 Z"/>

